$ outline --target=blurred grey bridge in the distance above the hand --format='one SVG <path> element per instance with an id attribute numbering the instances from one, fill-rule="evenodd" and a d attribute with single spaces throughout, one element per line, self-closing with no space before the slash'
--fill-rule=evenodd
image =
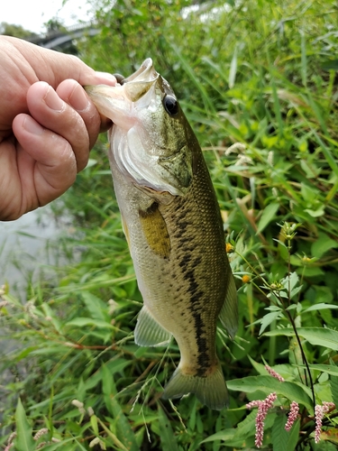
<path id="1" fill-rule="evenodd" d="M 67 28 L 62 28 L 61 30 L 41 34 L 40 36 L 32 36 L 31 38 L 26 38 L 26 40 L 46 49 L 62 51 L 73 40 L 82 38 L 83 36 L 95 36 L 98 34 L 101 30 L 96 28 L 96 25 L 94 21 L 78 23 Z"/>

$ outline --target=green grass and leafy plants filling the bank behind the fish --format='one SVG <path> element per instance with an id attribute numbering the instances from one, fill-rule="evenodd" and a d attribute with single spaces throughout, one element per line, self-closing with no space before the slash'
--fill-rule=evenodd
<path id="1" fill-rule="evenodd" d="M 217 1 L 184 17 L 189 2 L 111 4 L 97 0 L 102 32 L 78 43 L 82 58 L 128 75 L 151 56 L 205 149 L 238 282 L 237 337 L 219 329 L 217 341 L 231 406 L 161 400 L 178 347 L 133 343 L 142 299 L 102 137 L 64 196 L 78 238 L 59 248 L 81 246 L 80 261 L 31 286 L 25 305 L 10 287 L 1 296 L 0 325 L 18 347 L 0 363 L 13 375 L 0 387 L 0 444 L 254 449 L 257 410 L 245 406 L 275 392 L 261 449 L 337 449 L 338 410 L 325 409 L 319 444 L 314 420 L 315 405 L 338 407 L 336 2 Z"/>

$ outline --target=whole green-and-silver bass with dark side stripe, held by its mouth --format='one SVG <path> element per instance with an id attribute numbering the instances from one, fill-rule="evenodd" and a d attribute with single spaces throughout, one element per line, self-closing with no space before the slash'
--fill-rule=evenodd
<path id="1" fill-rule="evenodd" d="M 224 226 L 201 147 L 178 98 L 151 58 L 114 87 L 85 87 L 108 131 L 114 192 L 143 306 L 141 346 L 167 345 L 180 361 L 163 399 L 195 393 L 213 410 L 229 404 L 215 351 L 217 320 L 234 337 L 236 286 Z"/>

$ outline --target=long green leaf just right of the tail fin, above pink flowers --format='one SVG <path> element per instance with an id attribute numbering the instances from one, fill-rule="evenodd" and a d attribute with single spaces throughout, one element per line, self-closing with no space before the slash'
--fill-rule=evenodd
<path id="1" fill-rule="evenodd" d="M 296 400 L 299 404 L 312 409 L 311 391 L 305 385 L 297 384 L 297 382 L 279 382 L 272 376 L 248 376 L 242 379 L 233 379 L 233 381 L 226 383 L 228 389 L 233 391 L 246 391 L 248 393 L 262 391 L 267 395 L 276 391 L 278 395 L 291 401 Z"/>

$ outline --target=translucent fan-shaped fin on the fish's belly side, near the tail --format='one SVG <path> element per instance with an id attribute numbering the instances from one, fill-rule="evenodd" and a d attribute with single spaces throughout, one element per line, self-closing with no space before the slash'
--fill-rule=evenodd
<path id="1" fill-rule="evenodd" d="M 140 346 L 168 345 L 171 334 L 152 317 L 151 312 L 143 306 L 134 331 L 135 343 Z"/>

